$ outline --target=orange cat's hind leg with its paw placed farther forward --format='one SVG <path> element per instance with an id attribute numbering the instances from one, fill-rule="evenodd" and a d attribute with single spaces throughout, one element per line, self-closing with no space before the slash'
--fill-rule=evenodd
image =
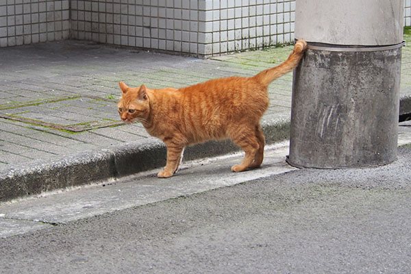
<path id="1" fill-rule="evenodd" d="M 234 127 L 233 132 L 229 134 L 230 139 L 245 151 L 245 156 L 240 164 L 232 166 L 232 171 L 240 172 L 248 169 L 256 158 L 259 143 L 253 127 L 245 128 L 244 125 Z"/>

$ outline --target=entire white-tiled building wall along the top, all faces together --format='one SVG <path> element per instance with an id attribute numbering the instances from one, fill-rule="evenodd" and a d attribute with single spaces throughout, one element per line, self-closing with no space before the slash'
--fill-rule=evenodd
<path id="1" fill-rule="evenodd" d="M 290 42 L 294 21 L 295 0 L 0 0 L 0 47 L 75 38 L 207 57 Z"/>

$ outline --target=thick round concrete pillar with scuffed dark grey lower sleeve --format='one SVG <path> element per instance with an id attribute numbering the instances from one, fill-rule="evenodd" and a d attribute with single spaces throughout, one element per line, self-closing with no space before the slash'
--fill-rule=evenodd
<path id="1" fill-rule="evenodd" d="M 290 155 L 299 167 L 377 166 L 397 158 L 403 0 L 297 0 Z"/>

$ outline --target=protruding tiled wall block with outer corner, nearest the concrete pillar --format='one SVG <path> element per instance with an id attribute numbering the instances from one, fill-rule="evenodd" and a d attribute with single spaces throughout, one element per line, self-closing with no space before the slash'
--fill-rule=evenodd
<path id="1" fill-rule="evenodd" d="M 295 0 L 99 0 L 71 3 L 73 38 L 216 55 L 293 40 Z"/>

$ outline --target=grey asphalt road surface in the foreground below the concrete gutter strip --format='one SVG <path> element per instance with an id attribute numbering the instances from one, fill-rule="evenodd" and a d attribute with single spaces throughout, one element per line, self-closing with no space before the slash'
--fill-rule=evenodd
<path id="1" fill-rule="evenodd" d="M 0 273 L 411 273 L 410 152 L 0 238 Z"/>

